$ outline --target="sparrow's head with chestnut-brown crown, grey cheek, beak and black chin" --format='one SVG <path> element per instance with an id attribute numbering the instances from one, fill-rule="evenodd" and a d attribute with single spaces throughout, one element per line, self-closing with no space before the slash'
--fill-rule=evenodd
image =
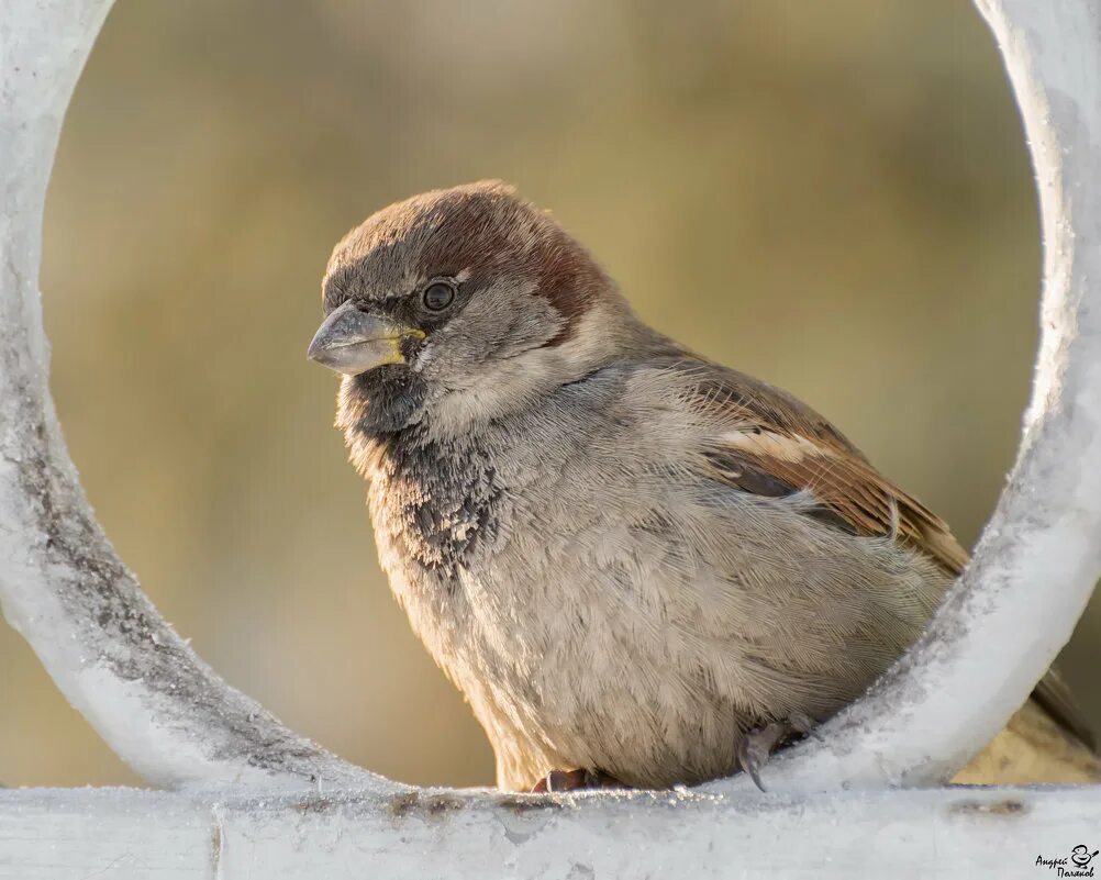
<path id="1" fill-rule="evenodd" d="M 641 325 L 596 261 L 497 182 L 414 196 L 337 245 L 309 357 L 349 441 L 458 434 L 613 359 Z"/>

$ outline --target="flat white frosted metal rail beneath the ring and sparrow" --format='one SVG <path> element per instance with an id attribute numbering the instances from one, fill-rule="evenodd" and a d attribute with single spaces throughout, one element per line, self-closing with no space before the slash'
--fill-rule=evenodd
<path id="1" fill-rule="evenodd" d="M 560 801 L 40 789 L 0 792 L 0 878 L 1055 880 L 1037 859 L 1071 866 L 1099 826 L 1090 789 Z"/>

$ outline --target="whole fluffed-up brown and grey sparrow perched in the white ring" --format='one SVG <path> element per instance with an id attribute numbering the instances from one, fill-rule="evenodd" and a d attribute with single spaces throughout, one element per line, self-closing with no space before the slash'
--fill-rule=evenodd
<path id="1" fill-rule="evenodd" d="M 857 699 L 968 554 L 787 392 L 644 323 L 498 181 L 337 243 L 308 357 L 379 559 L 511 791 L 696 785 Z M 1101 779 L 1053 671 L 960 782 Z"/>

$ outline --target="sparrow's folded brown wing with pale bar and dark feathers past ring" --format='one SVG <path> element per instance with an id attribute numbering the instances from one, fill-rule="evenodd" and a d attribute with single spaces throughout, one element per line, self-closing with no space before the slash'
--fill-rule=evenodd
<path id="1" fill-rule="evenodd" d="M 805 491 L 829 524 L 858 535 L 895 534 L 959 575 L 968 562 L 947 523 L 881 475 L 826 419 L 786 392 L 744 373 L 682 362 L 696 405 L 722 426 L 706 455 L 711 476 L 742 491 Z M 816 511 L 811 511 L 815 513 Z M 1075 738 L 1094 749 L 1089 721 L 1053 667 L 1033 699 Z"/>

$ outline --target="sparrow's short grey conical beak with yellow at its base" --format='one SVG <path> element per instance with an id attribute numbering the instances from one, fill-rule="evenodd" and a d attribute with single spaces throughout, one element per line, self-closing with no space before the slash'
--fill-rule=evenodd
<path id="1" fill-rule="evenodd" d="M 358 376 L 383 363 L 403 363 L 401 344 L 406 337 L 423 339 L 424 333 L 347 302 L 317 328 L 306 356 L 345 376 Z"/>

